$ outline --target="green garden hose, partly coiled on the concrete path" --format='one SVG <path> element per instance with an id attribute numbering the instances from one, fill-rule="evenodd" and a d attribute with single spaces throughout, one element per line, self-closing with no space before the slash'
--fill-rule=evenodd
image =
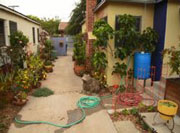
<path id="1" fill-rule="evenodd" d="M 22 121 L 22 120 L 18 120 L 17 118 L 15 118 L 15 122 L 18 124 L 25 124 L 25 125 L 28 125 L 28 124 L 47 124 L 47 125 L 60 127 L 60 128 L 69 128 L 73 125 L 76 125 L 76 124 L 82 122 L 86 118 L 86 113 L 85 113 L 84 109 L 95 108 L 96 106 L 98 106 L 100 104 L 100 101 L 101 101 L 101 99 L 99 97 L 94 97 L 94 96 L 81 97 L 80 100 L 77 102 L 77 106 L 82 111 L 82 117 L 78 121 L 69 123 L 67 125 L 58 125 L 58 124 L 54 124 L 54 123 L 46 122 L 46 121 Z"/>

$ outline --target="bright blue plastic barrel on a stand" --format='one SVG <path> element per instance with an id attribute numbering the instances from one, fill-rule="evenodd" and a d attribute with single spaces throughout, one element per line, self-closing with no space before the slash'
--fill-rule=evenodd
<path id="1" fill-rule="evenodd" d="M 151 70 L 151 54 L 135 53 L 134 55 L 134 78 L 148 79 Z"/>

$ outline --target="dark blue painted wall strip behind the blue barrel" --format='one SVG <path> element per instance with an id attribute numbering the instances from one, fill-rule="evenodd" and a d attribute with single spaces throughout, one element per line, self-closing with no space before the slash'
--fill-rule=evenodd
<path id="1" fill-rule="evenodd" d="M 162 71 L 163 61 L 161 52 L 165 45 L 167 3 L 168 0 L 164 0 L 163 2 L 156 4 L 154 7 L 154 29 L 159 34 L 159 41 L 157 43 L 156 50 L 152 54 L 152 65 L 156 67 L 155 81 L 160 80 Z"/>

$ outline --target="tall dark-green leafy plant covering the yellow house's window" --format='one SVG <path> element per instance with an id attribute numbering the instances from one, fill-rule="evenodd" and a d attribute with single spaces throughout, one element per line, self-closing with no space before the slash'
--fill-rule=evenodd
<path id="1" fill-rule="evenodd" d="M 122 54 L 120 58 L 123 60 L 133 54 L 138 44 L 139 34 L 136 31 L 136 20 L 132 15 L 119 15 L 118 22 L 121 28 L 115 32 L 115 35 L 121 49 L 116 49 L 115 55 L 118 57 Z"/>

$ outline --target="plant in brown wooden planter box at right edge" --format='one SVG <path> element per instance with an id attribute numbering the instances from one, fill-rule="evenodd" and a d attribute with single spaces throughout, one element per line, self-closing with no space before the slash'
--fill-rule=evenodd
<path id="1" fill-rule="evenodd" d="M 171 47 L 165 49 L 163 55 L 167 55 L 169 58 L 170 75 L 176 74 L 175 78 L 168 78 L 166 80 L 165 99 L 173 100 L 180 105 L 180 46 L 178 48 Z M 180 109 L 178 110 L 178 114 L 180 115 Z"/>

